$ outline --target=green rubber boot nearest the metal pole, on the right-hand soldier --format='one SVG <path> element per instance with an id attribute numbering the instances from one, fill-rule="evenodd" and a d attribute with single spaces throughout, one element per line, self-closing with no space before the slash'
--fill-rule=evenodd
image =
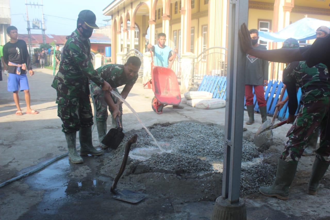
<path id="1" fill-rule="evenodd" d="M 259 192 L 265 196 L 274 196 L 281 200 L 289 199 L 289 187 L 296 174 L 298 162 L 289 163 L 279 159 L 276 178 L 273 185 L 260 187 Z"/>

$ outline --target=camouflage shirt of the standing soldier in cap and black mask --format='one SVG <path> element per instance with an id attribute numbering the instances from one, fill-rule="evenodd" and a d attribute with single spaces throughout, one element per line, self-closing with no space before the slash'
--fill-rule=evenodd
<path id="1" fill-rule="evenodd" d="M 72 32 L 63 48 L 63 59 L 51 87 L 64 95 L 84 97 L 89 94 L 88 79 L 100 86 L 104 80 L 94 70 L 90 41 Z"/>

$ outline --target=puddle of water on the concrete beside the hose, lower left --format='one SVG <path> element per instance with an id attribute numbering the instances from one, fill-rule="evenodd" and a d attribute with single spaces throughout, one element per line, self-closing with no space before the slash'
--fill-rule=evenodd
<path id="1" fill-rule="evenodd" d="M 45 190 L 43 201 L 37 206 L 40 213 L 55 214 L 66 202 L 75 201 L 77 196 L 81 198 L 82 195 L 100 195 L 109 191 L 112 180 L 108 177 L 90 173 L 86 177 L 72 179 L 70 173 L 77 167 L 69 164 L 68 158 L 64 157 L 26 177 L 31 190 Z"/>

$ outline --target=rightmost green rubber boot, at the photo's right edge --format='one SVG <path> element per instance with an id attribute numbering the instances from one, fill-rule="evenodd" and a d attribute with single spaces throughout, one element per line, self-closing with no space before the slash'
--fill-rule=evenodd
<path id="1" fill-rule="evenodd" d="M 327 171 L 330 163 L 321 161 L 317 157 L 315 157 L 311 179 L 308 183 L 308 194 L 315 195 L 318 189 L 318 182 L 322 179 L 325 172 Z"/>

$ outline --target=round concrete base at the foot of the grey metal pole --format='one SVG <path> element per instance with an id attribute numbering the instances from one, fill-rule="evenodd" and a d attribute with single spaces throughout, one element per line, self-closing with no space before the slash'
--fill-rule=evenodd
<path id="1" fill-rule="evenodd" d="M 237 203 L 230 204 L 227 199 L 223 199 L 221 196 L 215 200 L 212 220 L 226 219 L 237 220 L 247 219 L 247 209 L 245 202 L 239 201 Z"/>

